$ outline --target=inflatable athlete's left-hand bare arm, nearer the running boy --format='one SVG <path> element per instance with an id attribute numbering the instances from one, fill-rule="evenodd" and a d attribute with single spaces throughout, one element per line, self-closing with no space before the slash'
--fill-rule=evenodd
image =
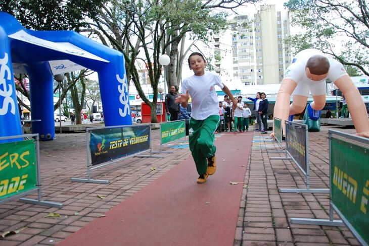
<path id="1" fill-rule="evenodd" d="M 282 119 L 281 122 L 282 127 L 285 126 L 285 120 L 288 119 L 288 114 L 290 111 L 290 98 L 296 86 L 297 83 L 294 80 L 284 79 L 282 81 L 280 90 L 278 91 L 277 97 L 275 99 L 273 117 Z M 274 133 L 274 125 L 273 125 L 273 133 Z M 273 133 L 271 134 L 272 136 L 274 136 Z"/>

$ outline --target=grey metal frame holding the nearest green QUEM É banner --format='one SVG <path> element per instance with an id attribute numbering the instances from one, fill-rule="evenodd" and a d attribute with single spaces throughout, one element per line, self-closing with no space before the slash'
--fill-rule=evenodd
<path id="1" fill-rule="evenodd" d="M 363 143 L 365 145 L 369 145 L 369 140 L 367 138 L 358 137 L 346 133 L 341 133 L 334 130 L 329 130 L 329 149 L 331 152 L 331 141 L 332 141 L 332 135 L 337 135 L 346 139 L 350 139 L 359 143 Z M 332 202 L 332 160 L 331 160 L 331 153 L 330 153 L 330 159 L 329 159 L 329 178 L 330 178 L 330 206 L 329 206 L 329 219 L 311 219 L 311 218 L 291 218 L 291 223 L 295 224 L 309 224 L 309 225 L 328 225 L 328 226 L 344 226 L 346 225 L 352 234 L 356 237 L 356 239 L 364 246 L 368 246 L 368 243 L 358 234 L 358 232 L 355 230 L 355 228 L 350 224 L 350 222 L 345 218 L 345 216 L 341 213 L 340 209 L 337 208 L 333 202 Z M 342 220 L 334 220 L 333 219 L 333 211 L 335 211 Z"/>

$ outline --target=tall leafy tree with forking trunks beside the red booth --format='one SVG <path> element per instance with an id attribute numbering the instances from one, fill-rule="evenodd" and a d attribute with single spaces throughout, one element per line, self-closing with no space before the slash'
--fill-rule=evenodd
<path id="1" fill-rule="evenodd" d="M 103 6 L 99 15 L 93 18 L 94 23 L 90 23 L 90 28 L 82 31 L 95 34 L 104 44 L 124 52 L 127 77 L 132 80 L 143 101 L 151 107 L 152 122 L 157 122 L 158 82 L 162 74 L 159 56 L 167 53 L 171 57 L 169 66 L 166 66 L 167 86 L 174 85 L 178 89 L 183 59 L 190 50 L 184 49 L 186 35 L 191 37 L 193 43 L 200 39 L 207 40 L 211 30 L 225 25 L 226 15 L 223 12 L 213 13 L 213 8 L 226 4 L 227 8 L 233 8 L 248 2 L 255 1 L 116 0 Z M 154 94 L 152 101 L 141 88 L 137 60 L 142 60 L 148 70 Z"/>

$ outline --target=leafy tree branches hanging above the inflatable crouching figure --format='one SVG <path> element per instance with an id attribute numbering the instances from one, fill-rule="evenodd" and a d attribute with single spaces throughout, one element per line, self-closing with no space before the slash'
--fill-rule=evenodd
<path id="1" fill-rule="evenodd" d="M 296 52 L 317 48 L 369 75 L 369 9 L 365 0 L 290 0 L 285 7 L 293 14 L 292 24 L 306 30 L 289 40 Z"/>

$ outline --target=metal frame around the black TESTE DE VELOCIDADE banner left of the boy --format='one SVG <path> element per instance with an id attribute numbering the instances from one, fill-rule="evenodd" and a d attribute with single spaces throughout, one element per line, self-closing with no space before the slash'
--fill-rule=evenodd
<path id="1" fill-rule="evenodd" d="M 134 154 L 131 154 L 131 155 L 128 155 L 128 156 L 124 156 L 124 157 L 121 157 L 121 158 L 117 158 L 117 159 L 112 160 L 112 161 L 101 163 L 101 164 L 98 164 L 98 165 L 96 165 L 94 167 L 91 167 L 92 166 L 92 163 L 91 163 L 92 161 L 90 160 L 90 151 L 91 151 L 90 150 L 90 147 L 89 147 L 90 132 L 93 131 L 93 130 L 99 130 L 99 129 L 135 127 L 135 126 L 124 125 L 124 126 L 99 127 L 99 128 L 86 129 L 87 178 L 75 178 L 75 177 L 72 177 L 71 178 L 71 181 L 75 181 L 75 182 L 86 182 L 86 183 L 109 183 L 109 180 L 107 180 L 107 179 L 92 179 L 91 178 L 91 171 L 92 170 L 95 170 L 95 169 L 103 168 L 105 166 L 109 166 L 109 165 L 114 164 L 114 163 L 116 163 L 118 161 L 122 161 L 122 160 L 125 160 L 125 159 L 128 159 L 128 158 L 137 156 L 137 154 L 143 154 L 143 153 L 146 153 L 148 151 L 151 151 L 151 136 L 152 136 L 152 134 L 151 134 L 151 123 L 148 123 L 148 124 L 140 124 L 140 125 L 137 125 L 136 127 L 143 126 L 143 125 L 150 125 L 150 148 L 149 149 L 144 150 L 144 151 L 141 151 L 141 152 L 138 152 L 138 153 L 134 153 Z M 151 156 L 151 153 L 150 153 L 150 156 L 149 157 L 154 157 L 154 156 Z M 163 157 L 156 157 L 156 158 L 164 158 L 164 156 Z"/>

